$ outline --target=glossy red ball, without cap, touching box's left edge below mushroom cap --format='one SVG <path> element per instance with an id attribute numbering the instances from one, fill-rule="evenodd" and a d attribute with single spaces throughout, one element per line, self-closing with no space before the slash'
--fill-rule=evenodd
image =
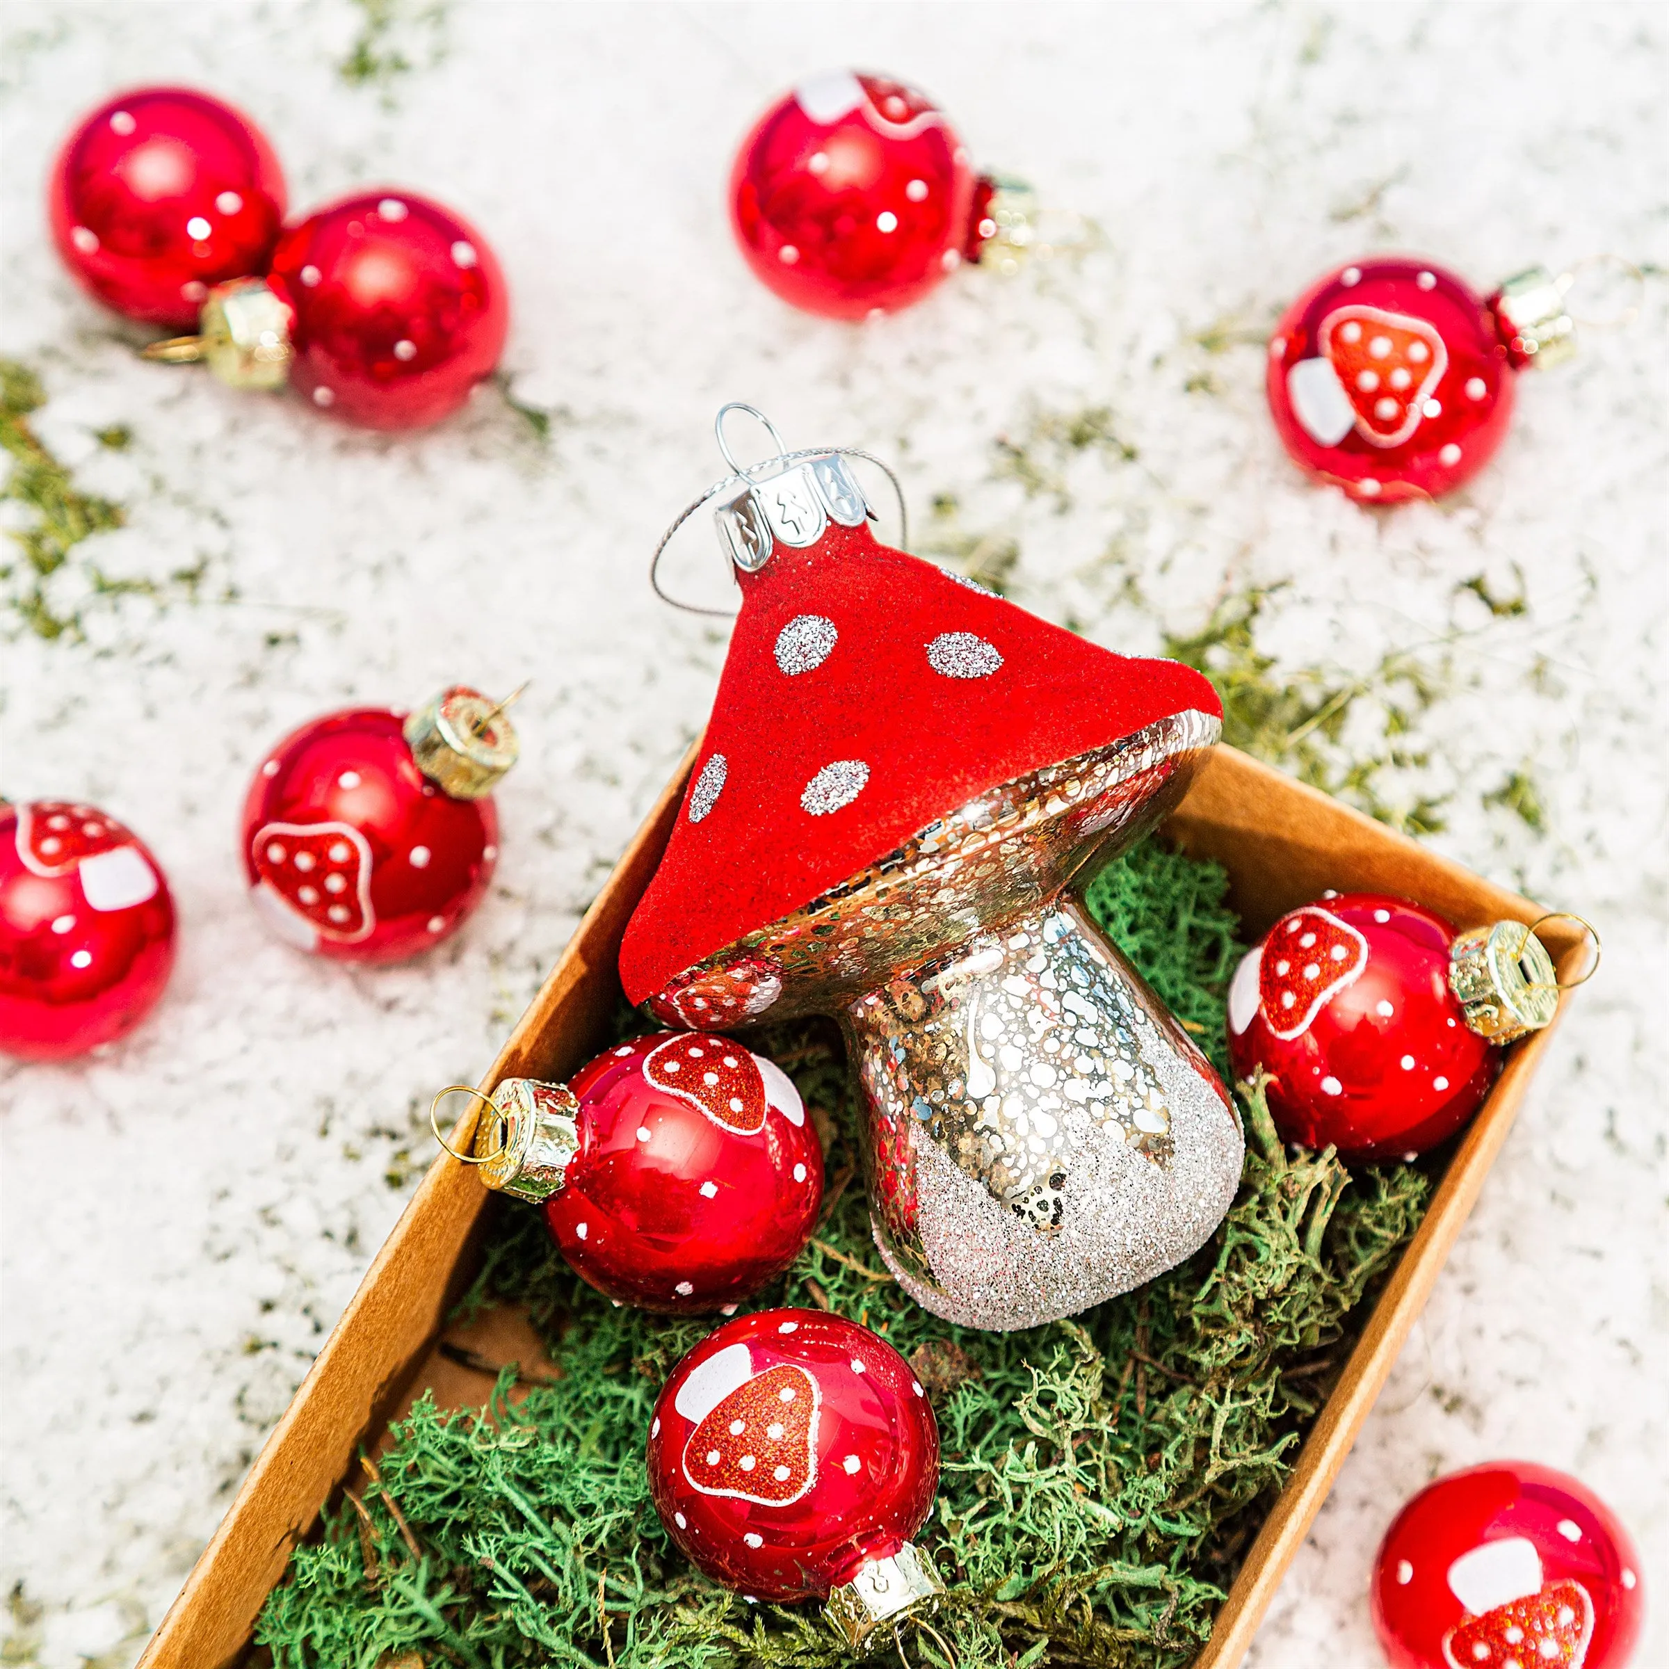
<path id="1" fill-rule="evenodd" d="M 733 1038 L 658 1031 L 599 1055 L 569 1090 L 579 1148 L 544 1215 L 599 1292 L 716 1310 L 799 1257 L 823 1203 L 823 1150 L 773 1061 Z"/>

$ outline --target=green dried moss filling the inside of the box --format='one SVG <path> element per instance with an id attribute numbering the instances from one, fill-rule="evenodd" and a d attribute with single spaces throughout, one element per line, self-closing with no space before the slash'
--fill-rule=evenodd
<path id="1" fill-rule="evenodd" d="M 1215 1046 L 1237 955 L 1225 878 L 1148 843 L 1088 905 L 1150 983 Z M 1160 1280 L 1025 1334 L 950 1327 L 880 1267 L 851 1187 L 851 1087 L 819 1026 L 764 1038 L 828 1113 L 831 1205 L 768 1303 L 821 1305 L 876 1329 L 930 1387 L 943 1480 L 923 1530 L 950 1594 L 936 1634 L 900 1649 L 946 1669 L 1040 1662 L 1178 1669 L 1290 1467 L 1427 1180 L 1355 1177 L 1282 1150 L 1245 1102 L 1240 1195 L 1212 1240 Z M 441 1414 L 426 1400 L 364 1494 L 334 1507 L 267 1602 L 277 1669 L 424 1664 L 519 1669 L 824 1669 L 845 1652 L 813 1609 L 749 1606 L 673 1551 L 649 1504 L 649 1410 L 704 1322 L 616 1310 L 551 1252 L 537 1215 L 504 1213 L 472 1305 L 526 1302 L 562 1379 Z"/>

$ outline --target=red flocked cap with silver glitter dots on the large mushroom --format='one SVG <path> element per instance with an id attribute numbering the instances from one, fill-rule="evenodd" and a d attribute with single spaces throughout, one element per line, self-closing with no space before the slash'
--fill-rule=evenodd
<path id="1" fill-rule="evenodd" d="M 986 789 L 1180 713 L 1222 718 L 1193 669 L 1050 626 L 861 519 L 784 544 L 796 509 L 778 501 L 766 559 L 738 564 L 701 759 L 621 945 L 634 1003 Z"/>

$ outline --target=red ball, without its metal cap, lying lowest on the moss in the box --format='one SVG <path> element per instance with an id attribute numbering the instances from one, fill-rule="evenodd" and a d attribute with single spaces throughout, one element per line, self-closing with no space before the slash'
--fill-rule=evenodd
<path id="1" fill-rule="evenodd" d="M 673 1369 L 648 1459 L 656 1510 L 693 1564 L 753 1599 L 799 1601 L 921 1527 L 938 1424 L 910 1364 L 866 1327 L 761 1310 Z"/>

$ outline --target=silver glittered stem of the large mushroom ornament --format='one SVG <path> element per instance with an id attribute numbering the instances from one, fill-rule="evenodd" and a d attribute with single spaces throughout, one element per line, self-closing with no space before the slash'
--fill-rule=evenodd
<path id="1" fill-rule="evenodd" d="M 1197 1250 L 1233 1200 L 1232 1102 L 1070 900 L 841 1020 L 876 1247 L 935 1315 L 995 1330 L 1073 1315 Z"/>

